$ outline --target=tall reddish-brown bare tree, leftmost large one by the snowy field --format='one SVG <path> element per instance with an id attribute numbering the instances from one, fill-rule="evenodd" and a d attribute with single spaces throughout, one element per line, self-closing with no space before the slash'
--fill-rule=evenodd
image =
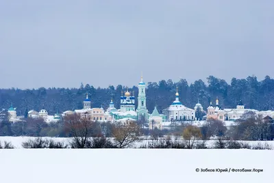
<path id="1" fill-rule="evenodd" d="M 84 148 L 88 137 L 92 132 L 93 122 L 89 117 L 81 117 L 78 114 L 68 115 L 64 118 L 64 126 L 71 132 L 73 142 L 71 147 Z"/>

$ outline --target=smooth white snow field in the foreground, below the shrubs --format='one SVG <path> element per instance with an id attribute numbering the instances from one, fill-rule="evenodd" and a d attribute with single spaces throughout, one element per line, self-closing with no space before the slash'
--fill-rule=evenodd
<path id="1" fill-rule="evenodd" d="M 0 182 L 271 182 L 273 155 L 272 150 L 0 150 Z M 201 172 L 226 168 L 231 171 Z M 263 171 L 232 171 L 243 168 Z"/>

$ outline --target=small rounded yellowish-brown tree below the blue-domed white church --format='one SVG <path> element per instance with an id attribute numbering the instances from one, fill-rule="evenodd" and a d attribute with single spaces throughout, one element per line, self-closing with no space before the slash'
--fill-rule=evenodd
<path id="1" fill-rule="evenodd" d="M 188 149 L 192 149 L 199 139 L 201 139 L 201 131 L 196 126 L 187 126 L 183 132 L 184 143 Z"/>

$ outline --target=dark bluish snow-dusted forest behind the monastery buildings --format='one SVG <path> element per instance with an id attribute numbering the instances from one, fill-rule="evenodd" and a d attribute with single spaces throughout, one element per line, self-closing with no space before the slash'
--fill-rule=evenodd
<path id="1" fill-rule="evenodd" d="M 248 76 L 247 79 L 233 78 L 230 84 L 223 79 L 208 76 L 205 83 L 201 79 L 191 83 L 181 79 L 175 83 L 171 79 L 167 81 L 148 82 L 147 85 L 147 109 L 149 113 L 154 106 L 162 112 L 175 100 L 176 87 L 178 87 L 179 100 L 189 108 L 194 108 L 198 100 L 206 109 L 212 101 L 215 104 L 216 97 L 222 108 L 235 108 L 239 100 L 242 100 L 246 108 L 258 110 L 274 109 L 274 79 L 265 76 L 264 80 L 258 81 L 256 76 Z M 79 88 L 48 88 L 39 89 L 0 89 L 0 109 L 8 109 L 12 104 L 16 107 L 17 115 L 25 115 L 29 110 L 40 111 L 46 109 L 49 114 L 62 113 L 67 110 L 82 109 L 82 101 L 88 93 L 92 101 L 92 107 L 107 109 L 110 100 L 114 100 L 116 108 L 120 107 L 121 92 L 126 87 L 110 85 L 108 88 L 95 88 L 92 85 L 81 84 Z M 138 96 L 138 83 L 129 88 Z M 136 98 L 137 106 L 137 98 Z"/>

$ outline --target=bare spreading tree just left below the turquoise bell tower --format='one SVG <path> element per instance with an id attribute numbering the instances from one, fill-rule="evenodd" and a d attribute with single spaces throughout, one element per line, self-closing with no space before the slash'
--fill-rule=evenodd
<path id="1" fill-rule="evenodd" d="M 135 122 L 115 124 L 112 128 L 114 143 L 119 148 L 131 147 L 139 140 L 140 126 Z"/>

